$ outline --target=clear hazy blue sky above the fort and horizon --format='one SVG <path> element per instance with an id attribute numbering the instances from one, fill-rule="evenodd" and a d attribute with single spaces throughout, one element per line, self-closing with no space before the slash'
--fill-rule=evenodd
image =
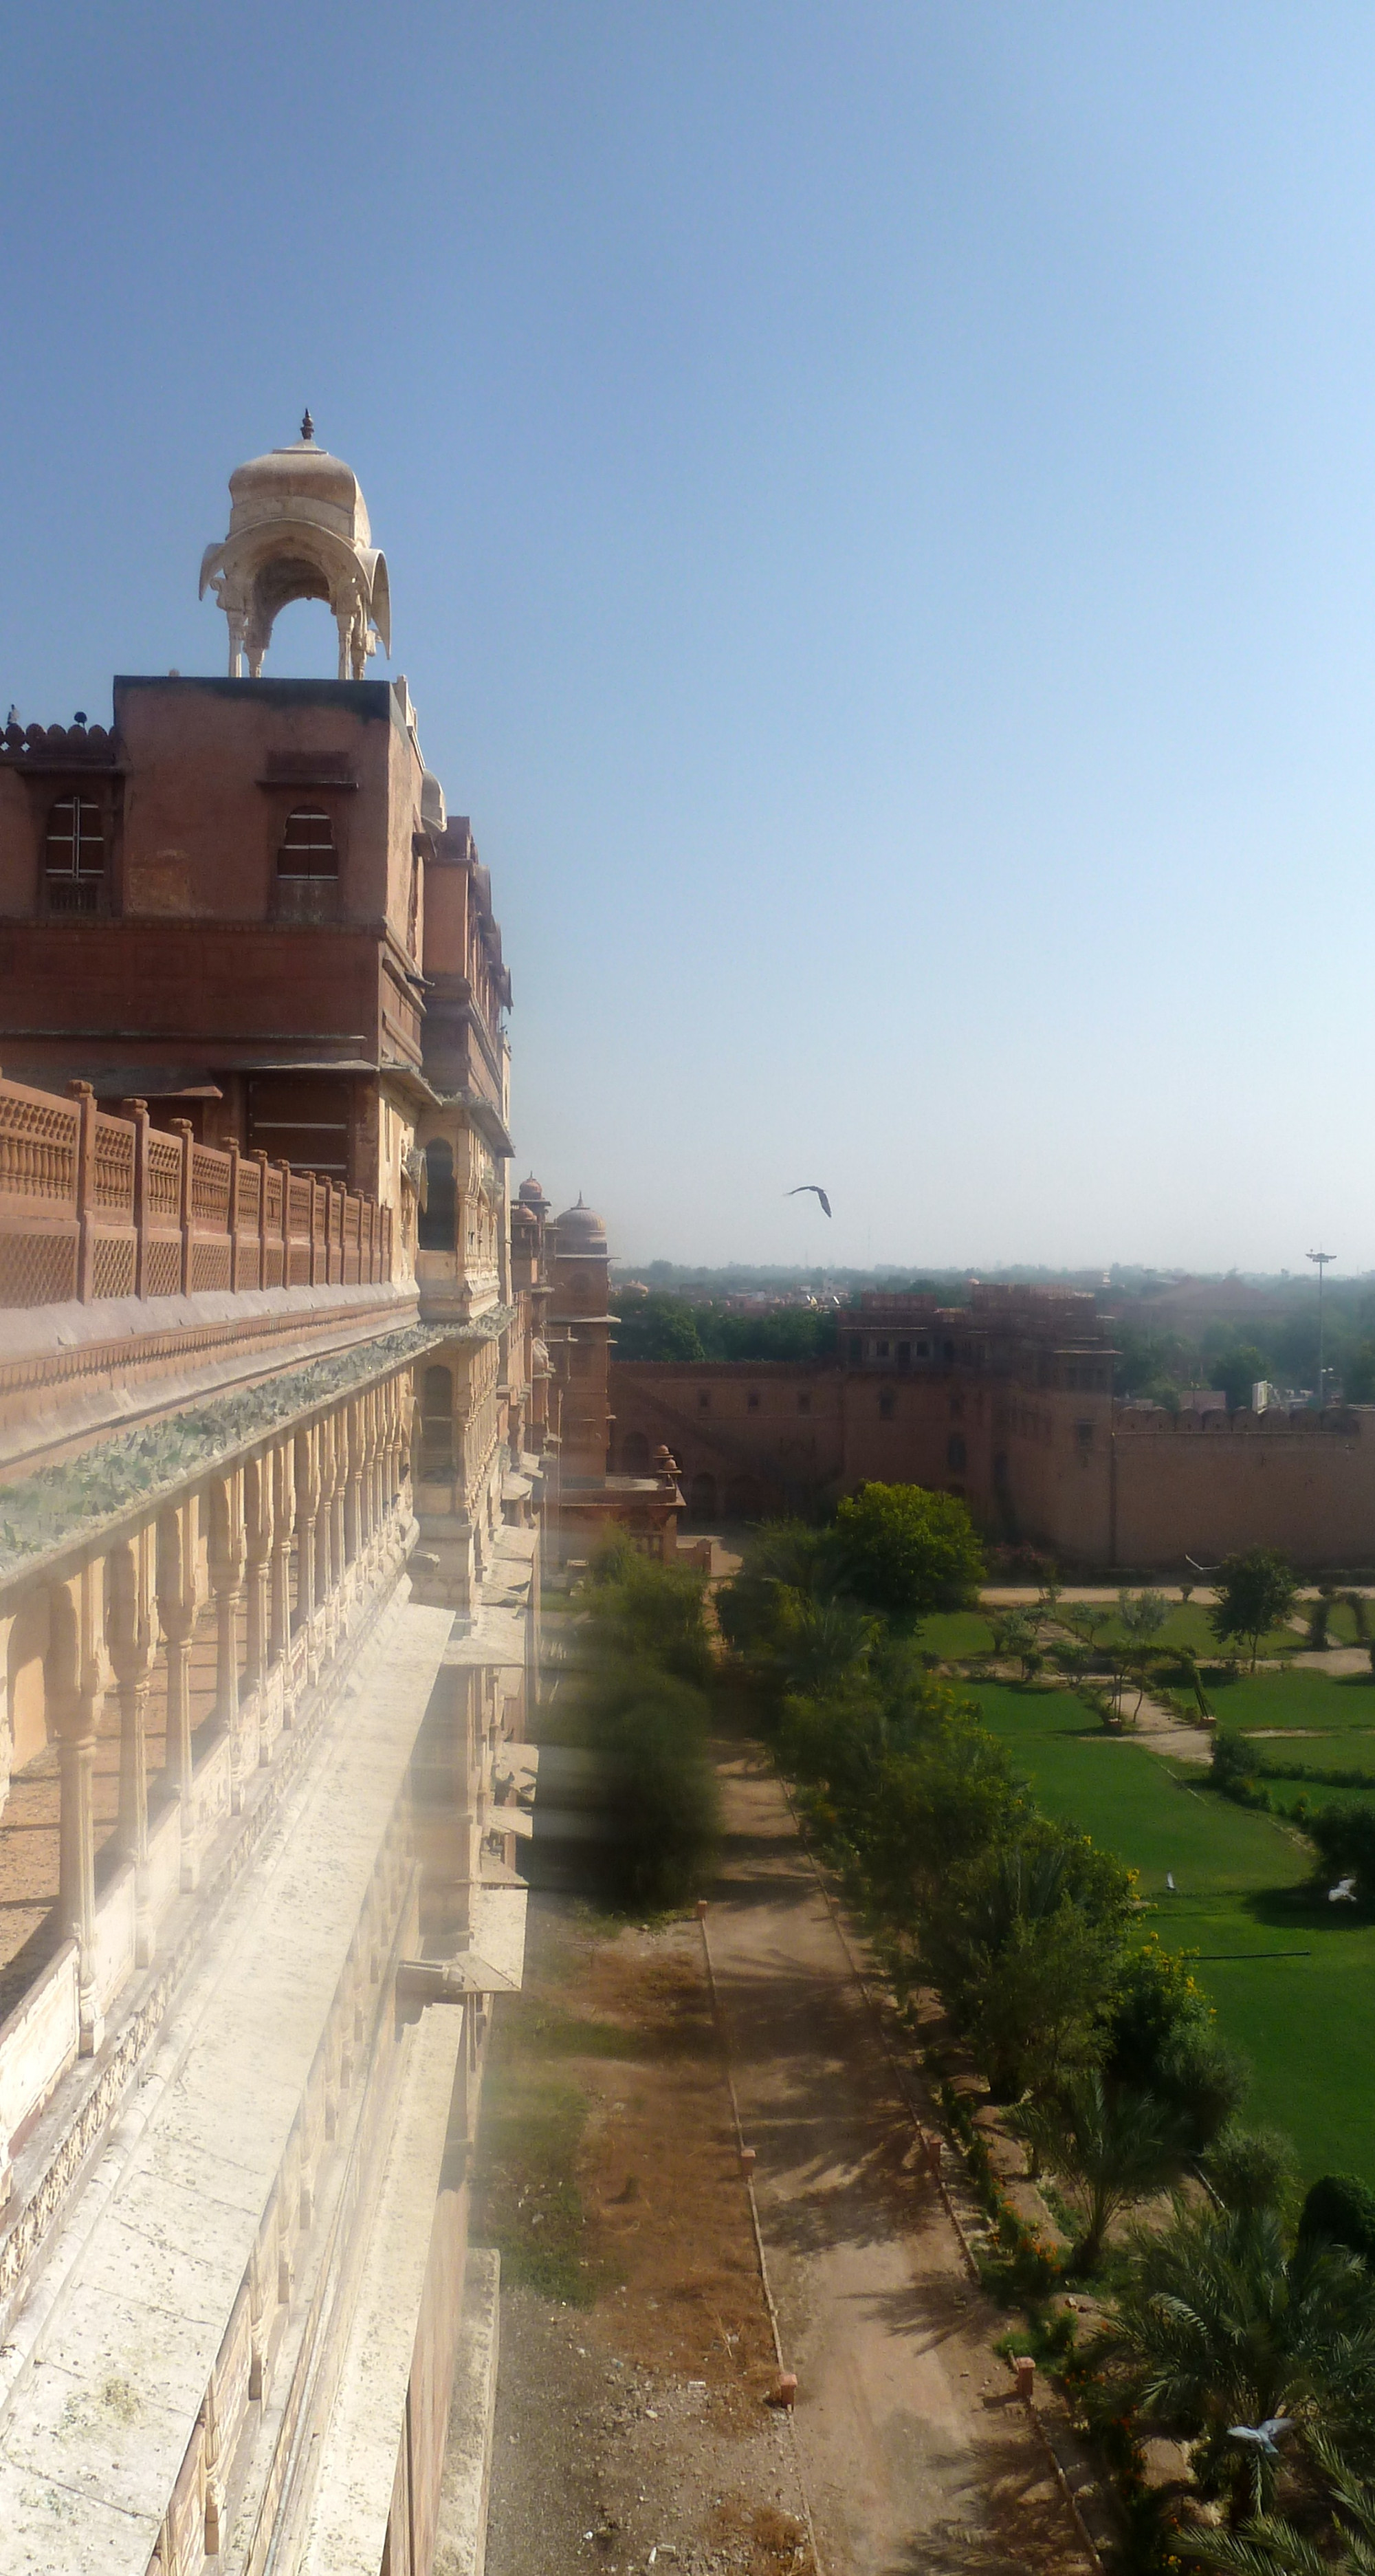
<path id="1" fill-rule="evenodd" d="M 3 26 L 0 703 L 221 670 L 309 402 L 518 1172 L 633 1260 L 1375 1265 L 1367 0 Z"/>

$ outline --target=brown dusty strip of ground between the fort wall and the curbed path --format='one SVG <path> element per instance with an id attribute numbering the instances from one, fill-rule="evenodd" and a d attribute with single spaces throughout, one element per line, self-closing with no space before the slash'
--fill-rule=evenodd
<path id="1" fill-rule="evenodd" d="M 695 1924 L 530 1901 L 474 2239 L 502 2246 L 489 2576 L 809 2576 Z"/>

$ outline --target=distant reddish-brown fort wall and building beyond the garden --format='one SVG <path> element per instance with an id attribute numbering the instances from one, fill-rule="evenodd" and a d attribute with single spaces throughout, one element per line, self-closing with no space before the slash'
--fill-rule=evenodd
<path id="1" fill-rule="evenodd" d="M 669 1443 L 693 1520 L 809 1512 L 863 1481 L 960 1494 L 991 1538 L 1094 1571 L 1375 1564 L 1375 1406 L 1179 1412 L 1112 1396 L 1112 1324 L 1066 1288 L 873 1293 L 806 1363 L 610 1360 L 613 1458 Z"/>

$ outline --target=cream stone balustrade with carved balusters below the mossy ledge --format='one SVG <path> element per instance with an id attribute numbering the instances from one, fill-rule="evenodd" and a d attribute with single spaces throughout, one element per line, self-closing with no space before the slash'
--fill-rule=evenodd
<path id="1" fill-rule="evenodd" d="M 337 1365 L 0 1577 L 0 2316 L 412 1546 L 409 1360 Z"/>

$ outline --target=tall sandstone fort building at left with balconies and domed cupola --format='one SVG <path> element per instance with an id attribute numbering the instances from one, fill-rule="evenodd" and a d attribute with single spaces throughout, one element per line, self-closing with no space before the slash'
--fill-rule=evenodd
<path id="1" fill-rule="evenodd" d="M 0 739 L 0 2571 L 425 2576 L 585 1327 L 309 422 L 203 587 L 229 677 Z"/>

